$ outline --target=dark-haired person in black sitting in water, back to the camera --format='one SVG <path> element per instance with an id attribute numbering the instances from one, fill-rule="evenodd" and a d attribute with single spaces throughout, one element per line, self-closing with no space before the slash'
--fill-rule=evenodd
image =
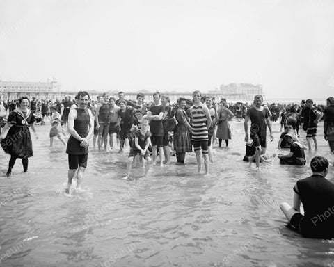
<path id="1" fill-rule="evenodd" d="M 280 204 L 280 209 L 297 232 L 311 238 L 334 237 L 334 184 L 325 177 L 328 161 L 315 156 L 311 163 L 312 176 L 300 179 L 294 186 L 294 204 Z M 303 204 L 305 214 L 300 213 Z"/>

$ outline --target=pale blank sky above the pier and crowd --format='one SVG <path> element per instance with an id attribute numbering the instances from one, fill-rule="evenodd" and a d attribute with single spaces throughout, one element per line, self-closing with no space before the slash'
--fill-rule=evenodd
<path id="1" fill-rule="evenodd" d="M 331 0 L 0 0 L 0 80 L 334 96 Z"/>

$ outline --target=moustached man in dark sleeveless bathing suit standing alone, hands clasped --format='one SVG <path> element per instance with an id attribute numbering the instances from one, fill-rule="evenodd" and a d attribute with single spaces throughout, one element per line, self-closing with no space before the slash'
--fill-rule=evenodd
<path id="1" fill-rule="evenodd" d="M 81 91 L 77 95 L 79 106 L 71 109 L 68 115 L 68 132 L 70 138 L 67 141 L 66 153 L 68 154 L 68 182 L 65 193 L 70 193 L 72 179 L 77 172 L 77 188 L 81 188 L 88 160 L 88 145 L 90 136 L 94 130 L 94 117 L 87 108 L 89 102 L 88 92 Z M 79 167 L 79 168 L 78 168 Z"/>

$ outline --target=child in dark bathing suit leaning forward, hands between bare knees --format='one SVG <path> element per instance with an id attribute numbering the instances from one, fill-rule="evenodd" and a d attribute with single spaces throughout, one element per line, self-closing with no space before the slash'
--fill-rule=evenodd
<path id="1" fill-rule="evenodd" d="M 148 174 L 148 170 L 150 170 L 151 165 L 151 157 L 150 152 L 148 152 L 148 147 L 151 143 L 151 133 L 148 131 L 148 120 L 141 121 L 141 127 L 138 131 L 135 132 L 134 142 L 132 143 L 132 147 L 129 153 L 129 159 L 127 161 L 127 175 L 123 177 L 123 179 L 130 178 L 132 161 L 134 161 L 134 157 L 137 154 L 140 154 L 143 159 L 145 159 L 145 172 L 144 177 Z"/>

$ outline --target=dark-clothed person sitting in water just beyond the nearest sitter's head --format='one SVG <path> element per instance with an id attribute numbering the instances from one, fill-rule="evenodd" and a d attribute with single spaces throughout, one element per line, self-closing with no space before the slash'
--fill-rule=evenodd
<path id="1" fill-rule="evenodd" d="M 283 165 L 305 165 L 304 147 L 299 143 L 298 138 L 294 135 L 294 131 L 289 131 L 285 134 L 287 143 L 290 144 L 290 153 L 287 155 L 278 154 L 280 164 Z"/>

